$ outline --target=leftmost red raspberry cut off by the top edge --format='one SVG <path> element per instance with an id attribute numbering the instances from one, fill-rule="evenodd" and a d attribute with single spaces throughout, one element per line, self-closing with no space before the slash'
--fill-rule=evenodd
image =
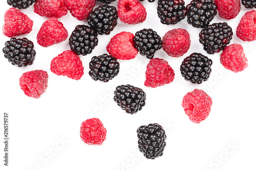
<path id="1" fill-rule="evenodd" d="M 65 0 L 37 0 L 34 12 L 40 16 L 60 18 L 68 13 Z"/>

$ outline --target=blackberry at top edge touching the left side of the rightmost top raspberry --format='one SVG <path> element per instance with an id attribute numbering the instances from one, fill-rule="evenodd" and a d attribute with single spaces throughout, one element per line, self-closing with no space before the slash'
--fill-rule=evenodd
<path id="1" fill-rule="evenodd" d="M 193 0 L 186 6 L 187 22 L 195 28 L 204 28 L 217 14 L 217 6 L 212 0 Z"/>

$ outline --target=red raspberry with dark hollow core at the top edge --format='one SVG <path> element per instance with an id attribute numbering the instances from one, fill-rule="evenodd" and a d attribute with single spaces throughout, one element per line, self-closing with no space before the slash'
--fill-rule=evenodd
<path id="1" fill-rule="evenodd" d="M 146 20 L 146 9 L 138 0 L 119 0 L 117 12 L 120 21 L 136 24 Z"/>

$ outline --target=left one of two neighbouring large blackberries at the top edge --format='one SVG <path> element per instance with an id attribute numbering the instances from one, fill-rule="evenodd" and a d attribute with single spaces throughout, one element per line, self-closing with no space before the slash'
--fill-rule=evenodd
<path id="1" fill-rule="evenodd" d="M 183 0 L 159 0 L 157 6 L 157 14 L 161 19 L 161 23 L 170 25 L 176 24 L 187 15 Z"/>

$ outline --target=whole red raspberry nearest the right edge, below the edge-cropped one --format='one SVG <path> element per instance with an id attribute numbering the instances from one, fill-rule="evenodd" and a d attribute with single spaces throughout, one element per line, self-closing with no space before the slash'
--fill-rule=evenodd
<path id="1" fill-rule="evenodd" d="M 236 43 L 225 47 L 220 62 L 225 68 L 233 72 L 243 71 L 248 66 L 243 46 Z"/>

